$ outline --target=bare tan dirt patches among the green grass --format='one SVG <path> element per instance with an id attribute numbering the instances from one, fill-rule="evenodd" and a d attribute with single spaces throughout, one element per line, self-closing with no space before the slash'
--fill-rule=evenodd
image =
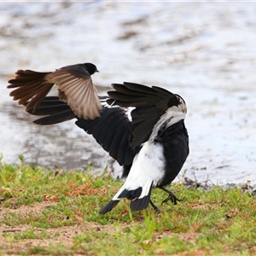
<path id="1" fill-rule="evenodd" d="M 3 208 L 0 207 L 0 214 L 3 217 L 6 214 L 10 214 L 12 212 L 20 215 L 20 216 L 26 216 L 29 214 L 33 215 L 39 215 L 42 211 L 44 211 L 47 207 L 52 207 L 55 205 L 55 202 L 49 202 L 49 201 L 42 201 L 32 204 L 31 206 L 20 206 L 17 208 Z M 125 229 L 125 227 L 130 226 L 131 224 L 119 224 L 121 227 L 121 230 Z M 47 235 L 49 235 L 49 238 L 46 239 L 20 239 L 20 240 L 14 240 L 14 241 L 8 241 L 6 238 L 3 237 L 3 234 L 6 233 L 20 233 L 22 231 L 31 230 L 32 227 L 29 224 L 21 224 L 16 226 L 8 226 L 6 224 L 0 223 L 0 248 L 3 249 L 3 255 L 6 252 L 11 252 L 13 254 L 8 255 L 15 255 L 15 252 L 20 252 L 32 247 L 54 247 L 57 244 L 64 244 L 67 248 L 72 248 L 73 246 L 73 237 L 79 236 L 80 234 L 86 232 L 86 230 L 91 230 L 93 228 L 96 231 L 99 232 L 108 232 L 113 233 L 114 227 L 113 224 L 108 225 L 101 225 L 94 222 L 81 222 L 79 224 L 74 224 L 73 226 L 63 226 L 60 228 L 50 228 L 47 230 L 44 230 Z M 34 228 L 34 233 L 37 234 L 42 232 L 43 229 Z M 59 236 L 55 236 L 55 234 L 58 233 Z M 160 239 L 162 236 L 168 235 L 173 236 L 172 232 L 165 232 L 165 234 L 155 234 L 155 239 Z M 177 234 L 175 234 L 177 235 Z M 198 236 L 198 234 L 179 234 L 181 239 L 184 241 L 194 241 L 195 236 Z M 79 252 L 75 253 L 76 255 L 79 255 Z M 82 253 L 81 253 L 82 255 Z"/>

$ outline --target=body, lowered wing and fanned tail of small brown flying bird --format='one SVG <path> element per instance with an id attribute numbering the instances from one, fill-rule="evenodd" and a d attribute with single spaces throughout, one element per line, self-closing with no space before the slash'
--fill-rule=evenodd
<path id="1" fill-rule="evenodd" d="M 8 88 L 16 88 L 10 92 L 10 96 L 15 101 L 19 100 L 19 104 L 26 105 L 26 111 L 34 112 L 55 84 L 60 100 L 67 102 L 76 116 L 95 119 L 100 116 L 102 105 L 90 78 L 95 71 L 89 72 L 87 67 L 86 63 L 77 64 L 61 67 L 52 73 L 18 70 L 15 79 L 9 80 Z"/>

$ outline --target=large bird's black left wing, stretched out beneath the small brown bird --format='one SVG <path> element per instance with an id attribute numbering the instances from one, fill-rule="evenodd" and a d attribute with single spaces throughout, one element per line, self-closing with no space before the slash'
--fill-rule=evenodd
<path id="1" fill-rule="evenodd" d="M 106 97 L 100 97 L 104 102 Z M 34 121 L 38 125 L 54 125 L 77 118 L 76 125 L 91 134 L 96 142 L 108 152 L 120 166 L 131 166 L 132 160 L 139 151 L 139 148 L 131 148 L 129 138 L 131 134 L 131 121 L 128 119 L 124 108 L 104 107 L 101 116 L 96 119 L 79 119 L 67 103 L 61 102 L 57 96 L 47 96 L 35 111 L 28 113 L 34 115 L 44 115 Z M 124 169 L 127 176 L 130 168 Z"/>

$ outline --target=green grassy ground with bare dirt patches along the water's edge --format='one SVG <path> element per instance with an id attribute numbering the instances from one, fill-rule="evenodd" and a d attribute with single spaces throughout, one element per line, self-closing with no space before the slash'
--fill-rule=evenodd
<path id="1" fill-rule="evenodd" d="M 106 173 L 26 166 L 22 157 L 19 166 L 0 163 L 0 255 L 256 253 L 256 201 L 250 194 L 174 183 L 170 189 L 183 198 L 176 206 L 161 206 L 166 194 L 154 189 L 152 200 L 161 212 L 130 212 L 124 200 L 100 215 L 121 184 Z"/>

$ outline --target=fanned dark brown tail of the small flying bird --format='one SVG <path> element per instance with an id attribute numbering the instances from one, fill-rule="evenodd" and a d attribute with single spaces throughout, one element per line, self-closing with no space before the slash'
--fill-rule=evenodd
<path id="1" fill-rule="evenodd" d="M 9 80 L 8 88 L 16 88 L 9 95 L 13 96 L 14 101 L 19 100 L 20 105 L 32 99 L 26 103 L 26 111 L 35 111 L 54 85 L 54 83 L 46 79 L 49 74 L 49 72 L 18 70 L 15 73 L 15 79 Z"/>

